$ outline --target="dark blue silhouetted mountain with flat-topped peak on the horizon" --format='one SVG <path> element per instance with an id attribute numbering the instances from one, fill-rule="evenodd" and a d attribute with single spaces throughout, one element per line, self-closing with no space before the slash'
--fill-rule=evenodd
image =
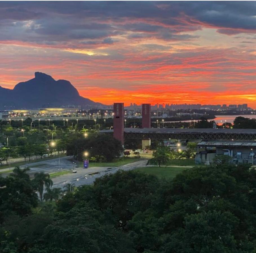
<path id="1" fill-rule="evenodd" d="M 81 97 L 69 81 L 56 81 L 41 72 L 36 72 L 31 80 L 16 84 L 13 90 L 0 86 L 0 109 L 37 109 L 66 105 L 104 107 L 101 103 Z"/>

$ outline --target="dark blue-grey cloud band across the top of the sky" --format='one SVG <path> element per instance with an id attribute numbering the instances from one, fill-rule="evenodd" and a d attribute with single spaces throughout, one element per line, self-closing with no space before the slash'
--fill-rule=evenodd
<path id="1" fill-rule="evenodd" d="M 198 37 L 180 32 L 215 27 L 227 35 L 254 33 L 255 16 L 256 3 L 248 1 L 2 1 L 0 39 L 112 44 L 111 36 L 129 31 L 129 39 L 191 40 Z"/>

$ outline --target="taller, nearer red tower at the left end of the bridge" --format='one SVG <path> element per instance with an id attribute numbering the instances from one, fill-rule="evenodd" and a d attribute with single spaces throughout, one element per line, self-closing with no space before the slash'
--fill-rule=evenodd
<path id="1" fill-rule="evenodd" d="M 114 137 L 123 144 L 124 111 L 123 103 L 114 103 Z"/>

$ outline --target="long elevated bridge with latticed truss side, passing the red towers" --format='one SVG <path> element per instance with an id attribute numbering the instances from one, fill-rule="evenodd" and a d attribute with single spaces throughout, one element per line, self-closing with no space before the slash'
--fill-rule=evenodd
<path id="1" fill-rule="evenodd" d="M 102 130 L 113 134 L 113 130 Z M 243 140 L 256 141 L 256 129 L 124 128 L 125 139 Z"/>

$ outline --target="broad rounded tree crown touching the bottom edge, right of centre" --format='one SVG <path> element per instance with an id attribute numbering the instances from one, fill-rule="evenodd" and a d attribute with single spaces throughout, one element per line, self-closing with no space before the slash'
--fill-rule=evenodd
<path id="1" fill-rule="evenodd" d="M 160 252 L 238 252 L 232 236 L 238 219 L 230 212 L 208 211 L 185 218 L 184 228 L 164 240 Z"/>

